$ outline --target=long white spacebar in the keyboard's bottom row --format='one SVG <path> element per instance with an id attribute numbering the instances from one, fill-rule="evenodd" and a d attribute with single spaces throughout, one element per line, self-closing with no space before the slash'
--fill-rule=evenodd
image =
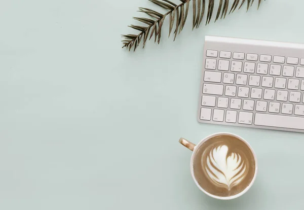
<path id="1" fill-rule="evenodd" d="M 304 130 L 304 118 L 283 115 L 255 114 L 255 125 Z"/>

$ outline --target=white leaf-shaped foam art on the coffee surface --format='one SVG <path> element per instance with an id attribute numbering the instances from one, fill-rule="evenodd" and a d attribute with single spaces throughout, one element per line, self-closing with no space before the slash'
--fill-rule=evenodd
<path id="1" fill-rule="evenodd" d="M 230 190 L 246 177 L 247 165 L 240 154 L 232 153 L 227 156 L 228 151 L 226 145 L 214 148 L 208 154 L 204 167 L 211 180 Z"/>

